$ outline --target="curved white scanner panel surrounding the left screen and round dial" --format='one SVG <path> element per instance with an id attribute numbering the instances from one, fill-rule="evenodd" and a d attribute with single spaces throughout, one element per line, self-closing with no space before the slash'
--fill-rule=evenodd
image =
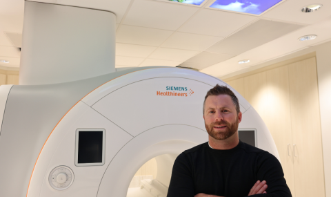
<path id="1" fill-rule="evenodd" d="M 96 167 L 77 167 L 74 165 L 74 142 L 78 128 L 103 128 L 106 130 L 105 165 Z M 132 136 L 126 131 L 114 125 L 83 102 L 79 102 L 61 120 L 43 147 L 34 169 L 28 196 L 95 196 L 103 173 L 112 158 L 131 139 Z M 52 169 L 61 165 L 72 169 L 74 182 L 68 189 L 57 191 L 50 187 L 48 175 Z"/>

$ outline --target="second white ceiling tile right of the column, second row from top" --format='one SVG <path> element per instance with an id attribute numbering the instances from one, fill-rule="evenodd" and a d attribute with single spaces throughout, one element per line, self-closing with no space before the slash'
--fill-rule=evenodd
<path id="1" fill-rule="evenodd" d="M 223 37 L 175 32 L 161 47 L 202 51 L 221 39 Z"/>

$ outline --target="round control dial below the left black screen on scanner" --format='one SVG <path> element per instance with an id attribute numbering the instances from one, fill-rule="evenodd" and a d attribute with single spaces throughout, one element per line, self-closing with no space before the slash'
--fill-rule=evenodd
<path id="1" fill-rule="evenodd" d="M 50 182 L 50 186 L 54 189 L 67 189 L 74 182 L 74 173 L 69 167 L 58 166 L 50 172 L 48 182 Z"/>

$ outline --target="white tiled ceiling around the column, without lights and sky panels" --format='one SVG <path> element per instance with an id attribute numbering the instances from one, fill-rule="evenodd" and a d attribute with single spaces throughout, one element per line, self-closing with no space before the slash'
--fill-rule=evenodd
<path id="1" fill-rule="evenodd" d="M 165 0 L 41 0 L 117 15 L 116 67 L 188 66 L 221 77 L 331 41 L 330 0 L 283 0 L 261 15 Z M 317 12 L 301 8 L 321 3 Z M 1 68 L 19 69 L 23 0 L 0 2 Z M 298 41 L 303 35 L 312 41 Z M 250 59 L 248 64 L 239 60 Z M 6 67 L 3 67 L 6 66 Z"/>

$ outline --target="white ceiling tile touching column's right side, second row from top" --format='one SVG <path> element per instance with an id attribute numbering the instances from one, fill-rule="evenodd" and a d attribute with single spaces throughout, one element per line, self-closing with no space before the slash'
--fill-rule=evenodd
<path id="1" fill-rule="evenodd" d="M 169 30 L 122 25 L 119 26 L 116 32 L 116 41 L 126 44 L 160 46 L 172 33 L 173 32 Z"/>

